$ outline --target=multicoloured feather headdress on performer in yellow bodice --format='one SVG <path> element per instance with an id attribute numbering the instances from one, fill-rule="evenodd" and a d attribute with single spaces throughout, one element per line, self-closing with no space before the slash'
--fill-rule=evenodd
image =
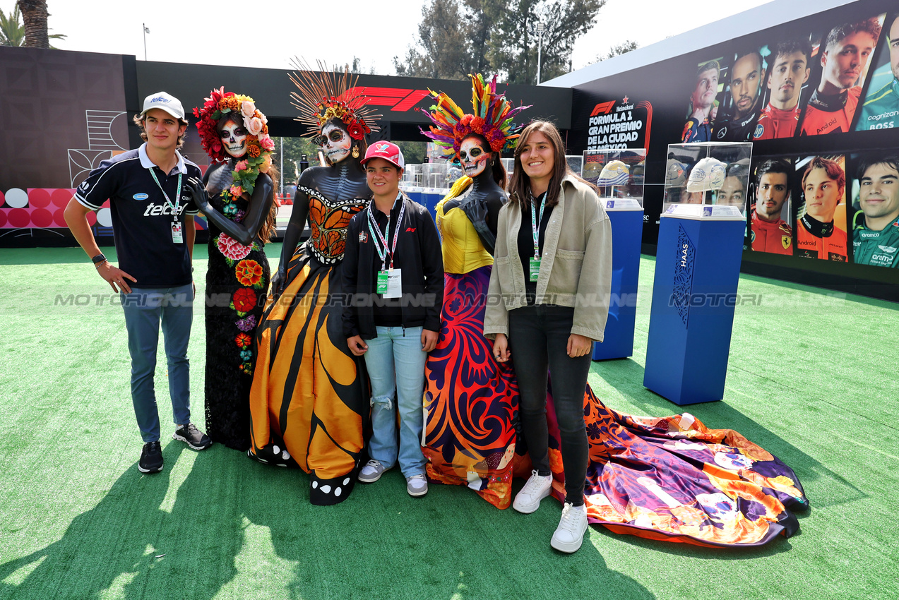
<path id="1" fill-rule="evenodd" d="M 512 119 L 530 106 L 512 108 L 512 102 L 507 101 L 504 94 L 496 93 L 496 75 L 489 84 L 485 83 L 480 74 L 468 76 L 471 77 L 473 112 L 466 114 L 446 93 L 429 90 L 437 104 L 431 107 L 432 112 L 425 111 L 433 125 L 430 131 L 422 129 L 422 133 L 434 140 L 434 144 L 441 146 L 447 157 L 458 158 L 462 140 L 473 133 L 485 137 L 494 152 L 514 147 L 514 140 L 519 137 L 521 126 L 516 126 Z"/>

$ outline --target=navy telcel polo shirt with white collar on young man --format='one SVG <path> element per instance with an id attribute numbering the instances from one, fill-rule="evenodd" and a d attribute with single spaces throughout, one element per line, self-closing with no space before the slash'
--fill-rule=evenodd
<path id="1" fill-rule="evenodd" d="M 200 179 L 200 168 L 177 151 L 178 164 L 165 173 L 147 156 L 147 144 L 137 150 L 113 156 L 94 169 L 78 186 L 75 198 L 97 210 L 110 200 L 112 237 L 119 253 L 119 268 L 137 279 L 131 287 L 177 287 L 191 283 L 191 255 L 184 232 L 184 216 L 198 214 L 187 180 Z M 156 172 L 159 185 L 150 170 Z M 178 173 L 182 173 L 178 215 L 165 201 L 163 190 L 174 203 L 178 194 Z M 172 241 L 172 224 L 182 224 L 183 243 Z"/>

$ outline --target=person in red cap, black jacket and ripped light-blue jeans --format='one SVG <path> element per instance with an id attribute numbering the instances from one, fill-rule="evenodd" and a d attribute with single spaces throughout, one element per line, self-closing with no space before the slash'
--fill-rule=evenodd
<path id="1" fill-rule="evenodd" d="M 343 254 L 344 289 L 353 295 L 343 334 L 371 381 L 371 460 L 359 481 L 378 481 L 398 462 L 406 491 L 423 496 L 424 361 L 441 329 L 441 242 L 427 208 L 399 191 L 405 162 L 396 144 L 373 143 L 362 164 L 374 199 L 352 217 Z"/>

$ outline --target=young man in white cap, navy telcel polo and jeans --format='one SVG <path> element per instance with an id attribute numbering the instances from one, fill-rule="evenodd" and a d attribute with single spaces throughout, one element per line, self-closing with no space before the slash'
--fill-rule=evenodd
<path id="1" fill-rule="evenodd" d="M 103 161 L 78 186 L 66 207 L 66 223 L 93 266 L 114 292 L 120 294 L 131 355 L 131 401 L 144 448 L 138 470 L 163 469 L 159 443 L 159 414 L 153 375 L 162 322 L 172 396 L 174 439 L 194 450 L 211 444 L 191 423 L 187 344 L 193 316 L 191 257 L 197 207 L 182 183 L 200 178 L 196 164 L 178 152 L 187 120 L 181 101 L 168 93 L 150 94 L 144 110 L 134 117 L 145 143 L 137 150 Z M 112 235 L 119 258 L 113 266 L 103 256 L 87 213 L 110 200 Z"/>

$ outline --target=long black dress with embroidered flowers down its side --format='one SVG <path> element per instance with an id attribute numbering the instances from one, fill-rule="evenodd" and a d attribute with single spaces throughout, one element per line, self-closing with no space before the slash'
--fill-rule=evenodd
<path id="1" fill-rule="evenodd" d="M 210 204 L 237 223 L 247 201 L 216 196 Z M 256 324 L 269 287 L 263 244 L 245 246 L 209 224 L 206 272 L 206 428 L 214 441 L 250 447 L 250 405 Z"/>

